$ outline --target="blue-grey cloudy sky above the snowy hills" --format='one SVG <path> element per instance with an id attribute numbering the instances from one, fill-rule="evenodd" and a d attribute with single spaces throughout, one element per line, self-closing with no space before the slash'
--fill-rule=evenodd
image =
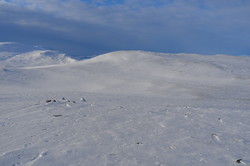
<path id="1" fill-rule="evenodd" d="M 249 0 L 0 0 L 0 42 L 72 56 L 250 55 Z"/>

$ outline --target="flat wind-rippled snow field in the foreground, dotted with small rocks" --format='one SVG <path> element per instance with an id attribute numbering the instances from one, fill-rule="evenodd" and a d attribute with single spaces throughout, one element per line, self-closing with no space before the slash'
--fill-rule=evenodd
<path id="1" fill-rule="evenodd" d="M 249 111 L 243 108 L 142 96 L 87 98 L 34 100 L 16 104 L 22 109 L 13 112 L 5 108 L 1 163 L 236 165 L 237 159 L 248 159 Z"/>

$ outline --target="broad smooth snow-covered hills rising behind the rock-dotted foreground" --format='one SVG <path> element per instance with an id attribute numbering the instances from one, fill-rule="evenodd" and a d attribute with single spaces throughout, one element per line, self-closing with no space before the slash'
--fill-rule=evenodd
<path id="1" fill-rule="evenodd" d="M 12 82 L 25 90 L 200 98 L 222 94 L 220 97 L 227 97 L 227 93 L 249 85 L 250 80 L 247 57 L 119 51 L 75 61 L 64 55 L 52 58 L 46 53 L 32 51 L 2 61 L 0 64 L 19 66 L 3 65 L 2 82 Z M 61 62 L 64 65 L 51 66 Z M 247 97 L 248 93 L 242 91 L 240 95 Z"/>

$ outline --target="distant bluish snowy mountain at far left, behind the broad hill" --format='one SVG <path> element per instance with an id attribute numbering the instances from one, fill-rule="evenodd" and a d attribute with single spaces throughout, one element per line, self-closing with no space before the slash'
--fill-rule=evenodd
<path id="1" fill-rule="evenodd" d="M 0 43 L 0 66 L 28 67 L 72 63 L 75 60 L 65 54 L 37 47 L 27 47 L 19 43 Z"/>

